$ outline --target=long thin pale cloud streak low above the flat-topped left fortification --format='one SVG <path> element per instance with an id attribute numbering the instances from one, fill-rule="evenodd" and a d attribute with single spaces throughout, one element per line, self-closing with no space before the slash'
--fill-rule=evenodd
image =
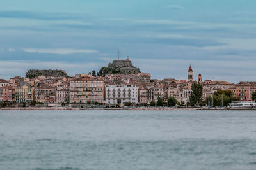
<path id="1" fill-rule="evenodd" d="M 29 53 L 55 53 L 67 55 L 72 53 L 97 53 L 97 50 L 90 49 L 73 49 L 73 48 L 23 48 L 24 52 Z"/>

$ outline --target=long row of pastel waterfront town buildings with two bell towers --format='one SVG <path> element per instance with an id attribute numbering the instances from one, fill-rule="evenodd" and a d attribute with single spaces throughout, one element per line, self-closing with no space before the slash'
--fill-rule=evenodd
<path id="1" fill-rule="evenodd" d="M 88 74 L 76 76 L 21 78 L 16 76 L 6 81 L 0 79 L 0 101 L 19 103 L 94 103 L 120 105 L 124 103 L 149 104 L 164 101 L 172 96 L 180 103 L 186 104 L 192 93 L 193 69 L 188 69 L 188 80 L 165 78 L 151 79 L 148 73 L 108 74 L 104 77 Z M 234 96 L 250 101 L 256 92 L 256 82 L 229 83 L 227 81 L 202 81 L 203 98 L 212 96 L 217 90 L 231 90 Z"/>

